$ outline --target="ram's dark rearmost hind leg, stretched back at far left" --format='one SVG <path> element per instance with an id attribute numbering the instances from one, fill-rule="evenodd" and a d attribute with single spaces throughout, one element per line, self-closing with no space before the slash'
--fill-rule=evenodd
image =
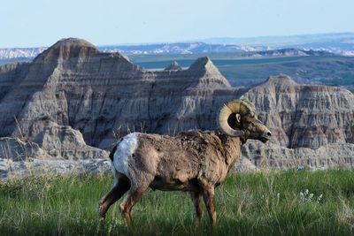
<path id="1" fill-rule="evenodd" d="M 130 182 L 127 178 L 120 177 L 108 194 L 105 194 L 99 204 L 99 217 L 104 218 L 107 210 L 114 202 L 117 202 L 122 195 L 129 190 Z"/>

